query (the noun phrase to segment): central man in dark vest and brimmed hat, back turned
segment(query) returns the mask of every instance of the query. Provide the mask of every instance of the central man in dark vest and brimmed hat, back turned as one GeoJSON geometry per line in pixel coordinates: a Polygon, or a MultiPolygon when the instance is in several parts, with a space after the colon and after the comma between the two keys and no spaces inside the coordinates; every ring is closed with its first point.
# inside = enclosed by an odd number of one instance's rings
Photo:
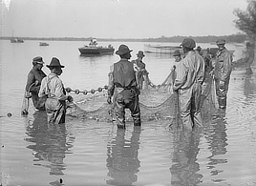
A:
{"type": "Polygon", "coordinates": [[[109,104],[114,102],[114,122],[117,128],[125,129],[125,109],[131,111],[134,119],[134,126],[140,126],[139,110],[139,88],[136,81],[136,70],[134,64],[128,61],[131,58],[132,50],[126,45],[120,45],[117,55],[120,60],[110,67],[108,99],[109,104]]]}

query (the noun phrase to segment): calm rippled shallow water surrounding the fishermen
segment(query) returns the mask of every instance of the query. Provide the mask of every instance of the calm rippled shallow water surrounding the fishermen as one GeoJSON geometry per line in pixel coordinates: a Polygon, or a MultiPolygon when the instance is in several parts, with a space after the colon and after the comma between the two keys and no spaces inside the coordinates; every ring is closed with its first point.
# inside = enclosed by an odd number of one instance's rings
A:
{"type": "MultiPolygon", "coordinates": [[[[47,47],[39,41],[0,42],[2,185],[256,185],[255,66],[251,76],[245,68],[232,72],[226,112],[212,115],[201,132],[170,130],[164,119],[143,121],[141,128],[128,122],[125,131],[72,116],[64,125],[49,125],[45,113],[32,107],[27,117],[20,115],[32,58],[41,55],[49,64],[58,57],[66,66],[60,77],[65,86],[91,90],[107,84],[118,56],[80,56],[84,42],[49,41],[47,47]]],[[[121,43],[111,44],[117,49],[121,43]]],[[[144,43],[125,44],[135,59],[144,43]]],[[[241,56],[242,46],[226,47],[235,50],[235,59],[241,56]]],[[[174,64],[174,58],[159,54],[146,53],[144,61],[157,85],[174,64]]]]}

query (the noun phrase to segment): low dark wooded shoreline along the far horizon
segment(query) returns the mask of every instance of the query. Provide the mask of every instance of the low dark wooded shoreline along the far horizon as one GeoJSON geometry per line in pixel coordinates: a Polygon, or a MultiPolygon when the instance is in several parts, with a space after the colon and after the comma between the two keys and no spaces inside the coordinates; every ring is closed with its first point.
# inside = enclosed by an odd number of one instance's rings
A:
{"type": "MultiPolygon", "coordinates": [[[[125,41],[125,42],[169,42],[169,43],[180,43],[187,36],[172,36],[165,37],[161,36],[158,38],[96,38],[97,41],[125,41]]],[[[246,35],[242,33],[224,35],[224,36],[189,36],[196,40],[198,43],[212,43],[216,42],[219,38],[224,38],[227,43],[244,43],[246,40],[246,35]]],[[[21,39],[21,40],[38,40],[38,41],[90,41],[92,37],[10,37],[2,36],[1,40],[11,40],[11,39],[21,39]]]]}

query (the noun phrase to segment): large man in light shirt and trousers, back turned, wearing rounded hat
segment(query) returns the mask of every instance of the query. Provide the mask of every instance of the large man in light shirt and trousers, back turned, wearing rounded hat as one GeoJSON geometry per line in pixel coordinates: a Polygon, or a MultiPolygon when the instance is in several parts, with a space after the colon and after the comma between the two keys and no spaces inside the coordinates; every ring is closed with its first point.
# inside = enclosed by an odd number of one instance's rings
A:
{"type": "Polygon", "coordinates": [[[204,78],[203,57],[194,51],[196,42],[185,38],[181,43],[184,58],[177,67],[177,77],[174,91],[178,91],[181,106],[181,121],[183,130],[202,127],[200,100],[204,78]]]}

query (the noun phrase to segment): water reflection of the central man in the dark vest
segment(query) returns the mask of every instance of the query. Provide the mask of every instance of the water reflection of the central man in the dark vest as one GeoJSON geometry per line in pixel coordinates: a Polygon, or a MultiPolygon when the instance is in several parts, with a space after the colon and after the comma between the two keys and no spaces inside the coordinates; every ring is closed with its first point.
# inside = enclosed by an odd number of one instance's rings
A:
{"type": "Polygon", "coordinates": [[[117,136],[107,145],[108,176],[110,185],[132,185],[138,181],[139,173],[139,135],[140,127],[134,127],[130,139],[126,139],[128,131],[117,129],[117,136]]]}

